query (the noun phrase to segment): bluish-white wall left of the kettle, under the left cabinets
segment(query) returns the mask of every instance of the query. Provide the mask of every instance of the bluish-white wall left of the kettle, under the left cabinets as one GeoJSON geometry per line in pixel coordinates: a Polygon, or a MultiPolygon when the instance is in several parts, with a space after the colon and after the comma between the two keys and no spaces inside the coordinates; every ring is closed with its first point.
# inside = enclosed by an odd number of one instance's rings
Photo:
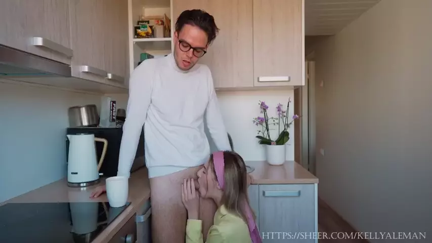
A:
{"type": "Polygon", "coordinates": [[[100,97],[2,83],[0,79],[0,202],[66,176],[67,109],[100,97]]]}

